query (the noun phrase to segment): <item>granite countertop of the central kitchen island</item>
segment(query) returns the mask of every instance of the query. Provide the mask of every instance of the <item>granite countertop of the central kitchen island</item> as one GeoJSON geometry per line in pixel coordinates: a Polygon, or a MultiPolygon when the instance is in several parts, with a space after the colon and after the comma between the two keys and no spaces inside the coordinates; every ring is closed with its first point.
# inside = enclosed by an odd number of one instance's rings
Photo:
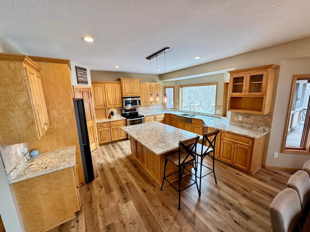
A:
{"type": "Polygon", "coordinates": [[[141,123],[122,127],[121,129],[154,152],[155,155],[172,151],[179,147],[180,140],[198,135],[160,122],[141,123]]]}

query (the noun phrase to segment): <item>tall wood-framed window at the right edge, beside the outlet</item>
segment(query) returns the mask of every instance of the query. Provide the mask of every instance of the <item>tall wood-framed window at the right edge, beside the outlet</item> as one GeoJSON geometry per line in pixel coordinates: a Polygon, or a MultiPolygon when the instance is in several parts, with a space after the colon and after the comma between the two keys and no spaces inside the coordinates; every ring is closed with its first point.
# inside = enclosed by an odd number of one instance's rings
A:
{"type": "Polygon", "coordinates": [[[310,74],[294,75],[286,119],[283,153],[310,154],[310,74]]]}

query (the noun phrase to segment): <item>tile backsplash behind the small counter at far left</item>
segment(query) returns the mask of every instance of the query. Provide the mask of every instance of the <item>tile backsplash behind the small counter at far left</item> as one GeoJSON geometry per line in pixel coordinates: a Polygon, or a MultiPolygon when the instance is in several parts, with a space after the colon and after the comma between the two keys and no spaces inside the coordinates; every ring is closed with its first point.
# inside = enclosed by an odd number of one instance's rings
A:
{"type": "Polygon", "coordinates": [[[23,145],[23,147],[29,148],[27,143],[14,144],[14,145],[8,145],[8,146],[0,145],[0,155],[4,163],[6,174],[9,174],[16,167],[16,165],[20,162],[20,160],[22,160],[25,156],[25,154],[21,154],[21,156],[18,156],[17,147],[18,146],[20,147],[20,145],[23,145]]]}

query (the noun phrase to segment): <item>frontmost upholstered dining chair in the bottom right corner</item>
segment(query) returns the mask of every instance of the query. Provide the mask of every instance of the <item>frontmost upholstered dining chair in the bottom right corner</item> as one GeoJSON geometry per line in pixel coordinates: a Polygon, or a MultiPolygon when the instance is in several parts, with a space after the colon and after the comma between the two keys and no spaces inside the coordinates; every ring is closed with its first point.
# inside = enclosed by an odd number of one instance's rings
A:
{"type": "Polygon", "coordinates": [[[272,232],[295,232],[300,228],[301,206],[297,192],[285,188],[273,199],[270,207],[272,232]]]}

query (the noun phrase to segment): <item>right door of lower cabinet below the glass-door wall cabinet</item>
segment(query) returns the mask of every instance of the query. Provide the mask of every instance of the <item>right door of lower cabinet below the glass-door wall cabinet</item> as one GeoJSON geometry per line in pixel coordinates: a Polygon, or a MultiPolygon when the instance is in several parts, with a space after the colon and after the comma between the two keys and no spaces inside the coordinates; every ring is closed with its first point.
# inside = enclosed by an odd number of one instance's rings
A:
{"type": "Polygon", "coordinates": [[[251,147],[235,144],[234,145],[234,159],[233,165],[249,171],[250,170],[250,161],[251,161],[251,147]]]}

